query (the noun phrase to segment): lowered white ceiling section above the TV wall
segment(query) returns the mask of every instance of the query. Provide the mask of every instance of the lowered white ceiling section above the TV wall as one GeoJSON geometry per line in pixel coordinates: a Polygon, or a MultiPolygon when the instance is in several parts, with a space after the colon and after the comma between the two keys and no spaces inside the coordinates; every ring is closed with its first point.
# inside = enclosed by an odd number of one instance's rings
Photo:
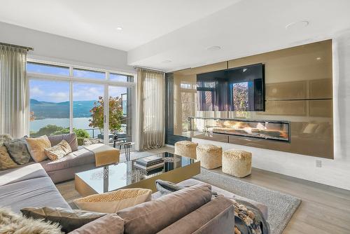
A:
{"type": "Polygon", "coordinates": [[[128,63],[174,71],[331,39],[350,29],[349,9],[350,0],[242,0],[130,50],[128,63]],[[309,25],[286,30],[300,20],[309,25]]]}

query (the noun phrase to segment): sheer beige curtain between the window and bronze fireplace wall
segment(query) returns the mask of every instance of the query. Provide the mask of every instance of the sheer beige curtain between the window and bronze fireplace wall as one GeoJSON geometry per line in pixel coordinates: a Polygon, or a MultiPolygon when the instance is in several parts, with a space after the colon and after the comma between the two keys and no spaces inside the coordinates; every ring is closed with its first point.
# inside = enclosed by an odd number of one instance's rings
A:
{"type": "Polygon", "coordinates": [[[137,70],[139,150],[165,144],[165,73],[137,70]]]}

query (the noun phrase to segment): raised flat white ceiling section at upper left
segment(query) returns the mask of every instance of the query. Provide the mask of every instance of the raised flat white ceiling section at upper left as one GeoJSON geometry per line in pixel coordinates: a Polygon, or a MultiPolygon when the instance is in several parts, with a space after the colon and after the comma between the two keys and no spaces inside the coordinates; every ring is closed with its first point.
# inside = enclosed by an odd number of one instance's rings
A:
{"type": "Polygon", "coordinates": [[[0,21],[130,50],[236,1],[0,0],[0,21]]]}

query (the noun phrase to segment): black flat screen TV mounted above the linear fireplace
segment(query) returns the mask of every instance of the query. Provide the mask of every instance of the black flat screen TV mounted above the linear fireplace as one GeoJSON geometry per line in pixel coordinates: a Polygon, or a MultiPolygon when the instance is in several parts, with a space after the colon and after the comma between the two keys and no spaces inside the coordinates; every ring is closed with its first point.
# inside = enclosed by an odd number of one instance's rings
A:
{"type": "Polygon", "coordinates": [[[264,64],[197,74],[197,110],[264,111],[264,64]]]}

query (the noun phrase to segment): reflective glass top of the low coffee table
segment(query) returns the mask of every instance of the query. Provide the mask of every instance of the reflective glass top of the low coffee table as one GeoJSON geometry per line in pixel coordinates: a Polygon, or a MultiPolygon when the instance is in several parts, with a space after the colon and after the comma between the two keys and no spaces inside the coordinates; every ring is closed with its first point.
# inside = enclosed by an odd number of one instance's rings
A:
{"type": "MultiPolygon", "coordinates": [[[[106,193],[152,177],[159,177],[161,174],[172,172],[179,168],[200,163],[200,161],[193,158],[186,158],[167,152],[154,154],[152,156],[163,158],[163,166],[151,172],[147,172],[146,170],[135,167],[134,163],[139,159],[137,158],[118,163],[117,165],[107,165],[106,167],[98,167],[85,172],[78,172],[76,173],[76,183],[78,179],[79,181],[83,181],[85,186],[89,186],[90,190],[92,189],[96,193],[106,193]]],[[[142,158],[147,157],[149,156],[142,158]]]]}

